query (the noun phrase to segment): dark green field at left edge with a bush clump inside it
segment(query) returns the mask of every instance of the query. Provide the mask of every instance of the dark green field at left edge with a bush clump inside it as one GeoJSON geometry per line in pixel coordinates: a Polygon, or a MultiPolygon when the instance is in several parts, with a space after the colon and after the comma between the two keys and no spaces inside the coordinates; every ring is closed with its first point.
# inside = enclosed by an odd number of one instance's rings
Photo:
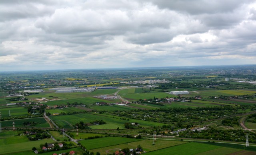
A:
{"type": "Polygon", "coordinates": [[[19,120],[7,120],[1,121],[2,127],[12,127],[12,123],[15,123],[15,127],[25,127],[23,122],[37,122],[35,126],[28,126],[28,128],[39,127],[39,128],[50,128],[50,125],[44,120],[44,118],[24,118],[19,120]]]}

